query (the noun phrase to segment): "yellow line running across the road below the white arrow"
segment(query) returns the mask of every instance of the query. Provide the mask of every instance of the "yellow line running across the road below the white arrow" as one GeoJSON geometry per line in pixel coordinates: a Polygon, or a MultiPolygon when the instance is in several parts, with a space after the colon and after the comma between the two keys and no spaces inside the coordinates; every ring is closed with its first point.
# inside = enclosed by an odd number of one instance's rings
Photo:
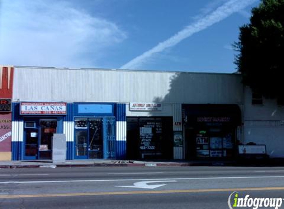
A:
{"type": "Polygon", "coordinates": [[[30,194],[30,195],[0,195],[0,198],[44,198],[96,195],[131,195],[131,194],[166,194],[166,193],[193,193],[193,192],[229,192],[229,191],[258,191],[284,190],[284,187],[254,187],[254,188],[224,188],[224,189],[185,189],[160,191],[124,191],[124,192],[86,192],[86,193],[58,193],[58,194],[30,194]]]}

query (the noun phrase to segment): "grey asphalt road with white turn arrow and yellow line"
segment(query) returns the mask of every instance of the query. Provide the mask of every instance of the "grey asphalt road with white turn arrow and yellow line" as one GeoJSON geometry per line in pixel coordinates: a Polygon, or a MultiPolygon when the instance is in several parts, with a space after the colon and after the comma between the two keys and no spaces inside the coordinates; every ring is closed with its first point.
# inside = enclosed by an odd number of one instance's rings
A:
{"type": "Polygon", "coordinates": [[[282,203],[284,167],[0,169],[0,209],[228,209],[234,191],[282,203]]]}

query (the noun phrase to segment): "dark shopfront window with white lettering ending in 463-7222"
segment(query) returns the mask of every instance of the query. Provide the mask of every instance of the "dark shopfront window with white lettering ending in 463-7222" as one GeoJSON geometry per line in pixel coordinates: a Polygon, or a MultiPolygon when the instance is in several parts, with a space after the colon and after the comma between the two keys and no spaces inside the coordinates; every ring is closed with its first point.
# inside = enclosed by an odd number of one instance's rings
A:
{"type": "Polygon", "coordinates": [[[171,117],[128,117],[127,158],[171,159],[172,123],[171,117]]]}

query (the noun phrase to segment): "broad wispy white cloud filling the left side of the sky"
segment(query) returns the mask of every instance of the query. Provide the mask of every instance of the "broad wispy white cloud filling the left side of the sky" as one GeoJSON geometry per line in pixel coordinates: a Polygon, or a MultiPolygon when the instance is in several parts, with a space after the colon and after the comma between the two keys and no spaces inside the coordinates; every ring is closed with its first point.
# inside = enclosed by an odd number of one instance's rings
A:
{"type": "Polygon", "coordinates": [[[66,0],[1,0],[0,63],[89,67],[127,35],[66,0]],[[91,56],[91,57],[90,57],[91,56]]]}

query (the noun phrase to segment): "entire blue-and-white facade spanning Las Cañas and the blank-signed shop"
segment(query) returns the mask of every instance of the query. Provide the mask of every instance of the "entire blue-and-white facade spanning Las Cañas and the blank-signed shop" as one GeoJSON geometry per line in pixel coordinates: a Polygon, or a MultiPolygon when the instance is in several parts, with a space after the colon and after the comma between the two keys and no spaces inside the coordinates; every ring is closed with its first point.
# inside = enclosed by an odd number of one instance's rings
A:
{"type": "Polygon", "coordinates": [[[13,103],[12,160],[52,159],[54,133],[66,135],[67,160],[125,159],[125,104],[13,103]]]}

